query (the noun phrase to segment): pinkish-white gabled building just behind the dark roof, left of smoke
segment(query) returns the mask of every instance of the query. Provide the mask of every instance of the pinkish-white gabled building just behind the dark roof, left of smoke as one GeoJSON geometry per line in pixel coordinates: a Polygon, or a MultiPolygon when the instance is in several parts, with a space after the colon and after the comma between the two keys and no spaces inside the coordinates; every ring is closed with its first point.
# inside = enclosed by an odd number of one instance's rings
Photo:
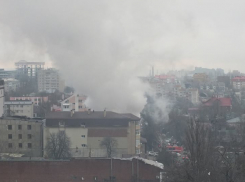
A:
{"type": "Polygon", "coordinates": [[[73,94],[61,102],[61,110],[62,111],[71,111],[71,110],[87,111],[85,105],[86,99],[87,96],[85,95],[73,94]]]}

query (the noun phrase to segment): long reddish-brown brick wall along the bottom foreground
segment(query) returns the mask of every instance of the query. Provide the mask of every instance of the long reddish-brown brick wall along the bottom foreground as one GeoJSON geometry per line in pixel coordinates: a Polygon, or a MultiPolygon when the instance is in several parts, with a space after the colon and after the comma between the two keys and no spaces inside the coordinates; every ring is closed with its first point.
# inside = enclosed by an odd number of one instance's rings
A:
{"type": "Polygon", "coordinates": [[[160,168],[136,159],[0,161],[3,182],[103,182],[109,176],[114,176],[116,182],[159,182],[160,171],[160,168]]]}

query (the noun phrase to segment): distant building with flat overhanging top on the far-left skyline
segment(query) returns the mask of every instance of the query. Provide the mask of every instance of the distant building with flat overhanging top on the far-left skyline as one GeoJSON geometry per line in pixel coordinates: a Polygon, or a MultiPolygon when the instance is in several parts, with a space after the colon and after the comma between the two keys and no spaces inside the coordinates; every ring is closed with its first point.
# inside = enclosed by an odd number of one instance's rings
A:
{"type": "Polygon", "coordinates": [[[15,63],[17,75],[26,75],[32,78],[37,77],[37,72],[42,70],[44,65],[44,62],[27,62],[24,60],[15,63]]]}

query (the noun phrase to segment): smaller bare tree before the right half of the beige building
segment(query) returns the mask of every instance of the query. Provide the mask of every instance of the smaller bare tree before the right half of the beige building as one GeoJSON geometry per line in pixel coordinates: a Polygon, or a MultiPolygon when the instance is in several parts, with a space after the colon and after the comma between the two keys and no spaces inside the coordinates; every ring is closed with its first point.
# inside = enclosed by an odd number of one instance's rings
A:
{"type": "Polygon", "coordinates": [[[106,153],[107,157],[112,157],[112,154],[116,152],[116,147],[117,147],[117,140],[112,137],[105,137],[101,142],[100,142],[101,147],[106,148],[106,153]]]}

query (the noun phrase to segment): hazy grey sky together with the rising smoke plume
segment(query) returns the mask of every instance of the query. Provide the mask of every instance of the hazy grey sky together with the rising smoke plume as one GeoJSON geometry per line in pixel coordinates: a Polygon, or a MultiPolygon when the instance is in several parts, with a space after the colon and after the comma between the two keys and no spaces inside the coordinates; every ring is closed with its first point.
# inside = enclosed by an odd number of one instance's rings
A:
{"type": "Polygon", "coordinates": [[[133,78],[151,65],[245,72],[244,7],[242,0],[1,0],[0,66],[46,61],[94,102],[138,110],[144,87],[133,78]],[[113,93],[119,100],[111,105],[113,93]]]}

